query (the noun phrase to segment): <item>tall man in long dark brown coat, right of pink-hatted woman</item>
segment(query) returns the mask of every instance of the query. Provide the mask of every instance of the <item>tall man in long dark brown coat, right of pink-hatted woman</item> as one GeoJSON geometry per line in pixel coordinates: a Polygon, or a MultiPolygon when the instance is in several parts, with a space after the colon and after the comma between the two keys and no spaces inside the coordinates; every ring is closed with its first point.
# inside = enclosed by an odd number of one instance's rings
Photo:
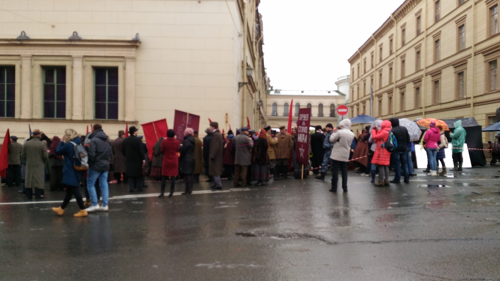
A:
{"type": "Polygon", "coordinates": [[[220,175],[222,174],[222,151],[224,148],[224,139],[218,130],[217,122],[210,122],[210,130],[212,132],[212,139],[210,141],[210,152],[208,159],[208,174],[213,176],[214,189],[222,189],[222,181],[220,175]]]}

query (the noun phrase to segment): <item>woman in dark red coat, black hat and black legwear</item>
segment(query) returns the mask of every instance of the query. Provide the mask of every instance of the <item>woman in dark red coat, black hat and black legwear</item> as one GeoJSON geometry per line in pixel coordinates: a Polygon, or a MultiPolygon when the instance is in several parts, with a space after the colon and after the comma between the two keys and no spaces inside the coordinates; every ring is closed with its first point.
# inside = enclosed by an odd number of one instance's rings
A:
{"type": "Polygon", "coordinates": [[[161,141],[160,151],[163,154],[163,161],[161,165],[161,193],[159,198],[163,198],[165,192],[166,179],[170,178],[170,194],[173,195],[173,188],[175,187],[175,176],[179,174],[179,141],[175,139],[175,131],[169,129],[166,131],[166,138],[161,141]]]}

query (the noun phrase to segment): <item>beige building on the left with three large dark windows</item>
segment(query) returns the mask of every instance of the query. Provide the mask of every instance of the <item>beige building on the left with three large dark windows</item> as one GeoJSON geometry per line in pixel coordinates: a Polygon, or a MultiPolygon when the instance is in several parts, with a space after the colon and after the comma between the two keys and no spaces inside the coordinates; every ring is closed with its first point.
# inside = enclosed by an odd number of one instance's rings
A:
{"type": "Polygon", "coordinates": [[[0,0],[0,135],[265,123],[260,0],[0,0]],[[21,31],[23,31],[21,33],[21,31]],[[75,32],[73,32],[75,31],[75,32]],[[137,34],[137,35],[136,35],[137,34]]]}

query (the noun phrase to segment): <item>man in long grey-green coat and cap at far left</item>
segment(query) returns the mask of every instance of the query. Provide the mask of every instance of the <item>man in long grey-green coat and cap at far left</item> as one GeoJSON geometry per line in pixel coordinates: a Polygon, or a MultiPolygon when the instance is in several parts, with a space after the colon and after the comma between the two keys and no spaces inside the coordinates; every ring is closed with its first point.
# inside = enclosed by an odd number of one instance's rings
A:
{"type": "Polygon", "coordinates": [[[32,198],[32,188],[35,189],[35,198],[44,198],[42,192],[45,186],[45,164],[48,161],[48,152],[47,146],[41,142],[40,130],[33,130],[31,139],[22,145],[21,159],[26,160],[26,198],[32,198]]]}

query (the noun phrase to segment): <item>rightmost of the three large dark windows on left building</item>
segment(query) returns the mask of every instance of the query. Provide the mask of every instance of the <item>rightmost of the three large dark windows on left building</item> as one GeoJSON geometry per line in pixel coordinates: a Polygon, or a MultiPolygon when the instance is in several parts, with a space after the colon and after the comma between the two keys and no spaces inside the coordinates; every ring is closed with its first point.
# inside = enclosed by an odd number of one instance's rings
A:
{"type": "Polygon", "coordinates": [[[95,119],[118,119],[118,67],[94,68],[95,119]]]}

